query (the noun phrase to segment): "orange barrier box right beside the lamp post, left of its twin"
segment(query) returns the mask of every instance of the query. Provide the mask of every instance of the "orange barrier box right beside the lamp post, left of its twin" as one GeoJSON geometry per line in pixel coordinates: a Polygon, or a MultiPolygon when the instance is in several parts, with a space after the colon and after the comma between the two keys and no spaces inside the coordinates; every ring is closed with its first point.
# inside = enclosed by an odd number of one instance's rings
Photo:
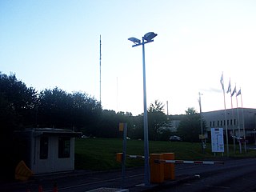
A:
{"type": "Polygon", "coordinates": [[[150,182],[164,182],[164,164],[154,162],[154,160],[163,159],[163,154],[150,154],[150,182]]]}

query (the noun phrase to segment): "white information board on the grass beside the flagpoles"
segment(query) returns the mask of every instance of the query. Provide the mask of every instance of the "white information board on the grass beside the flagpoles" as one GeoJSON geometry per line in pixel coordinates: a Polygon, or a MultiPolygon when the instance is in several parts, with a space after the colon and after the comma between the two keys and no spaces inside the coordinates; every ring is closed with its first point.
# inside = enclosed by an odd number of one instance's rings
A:
{"type": "Polygon", "coordinates": [[[224,152],[223,128],[211,128],[211,151],[224,152]]]}

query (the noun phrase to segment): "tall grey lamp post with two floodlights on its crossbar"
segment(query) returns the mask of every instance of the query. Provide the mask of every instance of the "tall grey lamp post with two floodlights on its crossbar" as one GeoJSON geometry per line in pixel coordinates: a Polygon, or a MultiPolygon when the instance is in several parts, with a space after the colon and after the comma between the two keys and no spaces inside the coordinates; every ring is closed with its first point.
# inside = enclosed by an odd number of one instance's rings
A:
{"type": "MultiPolygon", "coordinates": [[[[150,162],[149,162],[149,134],[148,134],[148,121],[146,110],[146,70],[145,70],[145,44],[148,42],[154,42],[158,34],[149,32],[142,37],[142,42],[138,38],[128,38],[131,42],[134,42],[134,46],[142,46],[142,63],[143,63],[143,101],[144,101],[144,182],[146,186],[150,185],[150,162]]],[[[134,47],[132,46],[132,47],[134,47]]]]}

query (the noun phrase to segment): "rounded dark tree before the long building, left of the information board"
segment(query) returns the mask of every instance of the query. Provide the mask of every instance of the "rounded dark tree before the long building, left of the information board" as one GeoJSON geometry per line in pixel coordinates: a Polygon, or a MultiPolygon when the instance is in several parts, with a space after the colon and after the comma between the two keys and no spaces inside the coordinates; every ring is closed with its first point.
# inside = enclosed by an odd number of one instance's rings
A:
{"type": "MultiPolygon", "coordinates": [[[[206,130],[206,122],[202,122],[202,127],[206,130]]],[[[178,126],[178,135],[186,142],[199,142],[199,134],[201,134],[200,114],[193,107],[186,110],[186,115],[178,126]]]]}

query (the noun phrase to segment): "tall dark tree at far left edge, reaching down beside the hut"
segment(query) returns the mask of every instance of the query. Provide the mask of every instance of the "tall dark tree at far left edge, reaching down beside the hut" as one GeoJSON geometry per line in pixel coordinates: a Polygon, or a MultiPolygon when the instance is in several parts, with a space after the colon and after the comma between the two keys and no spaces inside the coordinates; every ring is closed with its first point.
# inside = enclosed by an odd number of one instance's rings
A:
{"type": "Polygon", "coordinates": [[[25,83],[18,81],[15,74],[0,72],[0,127],[2,177],[12,179],[14,167],[17,165],[14,154],[14,130],[31,126],[34,123],[34,109],[37,102],[37,92],[27,88],[25,83]]]}

